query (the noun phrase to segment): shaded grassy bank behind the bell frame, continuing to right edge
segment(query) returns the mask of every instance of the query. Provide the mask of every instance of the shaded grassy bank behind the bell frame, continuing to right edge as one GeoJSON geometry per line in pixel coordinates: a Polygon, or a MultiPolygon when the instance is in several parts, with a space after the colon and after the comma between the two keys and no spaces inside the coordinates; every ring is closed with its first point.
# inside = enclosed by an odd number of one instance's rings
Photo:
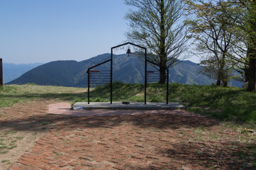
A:
{"type": "MultiPolygon", "coordinates": [[[[91,91],[90,101],[110,101],[109,86],[91,91]]],[[[165,102],[166,84],[151,84],[147,88],[147,101],[165,102]]],[[[74,98],[74,102],[87,101],[74,98]]],[[[144,84],[113,83],[113,101],[144,101],[144,84]]],[[[186,106],[187,111],[220,120],[240,120],[256,125],[256,93],[237,87],[196,86],[169,84],[169,101],[186,106]]]]}

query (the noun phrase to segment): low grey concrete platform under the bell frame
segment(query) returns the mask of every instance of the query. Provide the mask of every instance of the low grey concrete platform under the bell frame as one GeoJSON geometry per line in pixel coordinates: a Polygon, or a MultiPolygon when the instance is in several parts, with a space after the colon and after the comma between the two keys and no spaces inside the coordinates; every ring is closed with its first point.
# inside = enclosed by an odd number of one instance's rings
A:
{"type": "Polygon", "coordinates": [[[164,102],[147,102],[145,105],[144,102],[130,102],[130,104],[123,104],[121,102],[77,102],[72,106],[74,110],[79,109],[109,109],[109,110],[173,110],[177,108],[185,108],[180,103],[169,102],[168,104],[164,102]]]}

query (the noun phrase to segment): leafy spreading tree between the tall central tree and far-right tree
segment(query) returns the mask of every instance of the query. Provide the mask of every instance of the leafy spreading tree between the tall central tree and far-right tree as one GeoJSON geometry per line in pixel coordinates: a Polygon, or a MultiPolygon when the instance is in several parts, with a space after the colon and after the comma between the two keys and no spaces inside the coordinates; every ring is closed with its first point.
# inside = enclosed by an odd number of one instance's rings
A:
{"type": "Polygon", "coordinates": [[[236,42],[230,22],[237,18],[226,17],[218,4],[212,1],[187,1],[188,11],[194,17],[187,21],[189,32],[196,42],[196,50],[201,54],[204,74],[216,79],[216,85],[228,85],[232,78],[233,62],[230,49],[236,42]]]}

